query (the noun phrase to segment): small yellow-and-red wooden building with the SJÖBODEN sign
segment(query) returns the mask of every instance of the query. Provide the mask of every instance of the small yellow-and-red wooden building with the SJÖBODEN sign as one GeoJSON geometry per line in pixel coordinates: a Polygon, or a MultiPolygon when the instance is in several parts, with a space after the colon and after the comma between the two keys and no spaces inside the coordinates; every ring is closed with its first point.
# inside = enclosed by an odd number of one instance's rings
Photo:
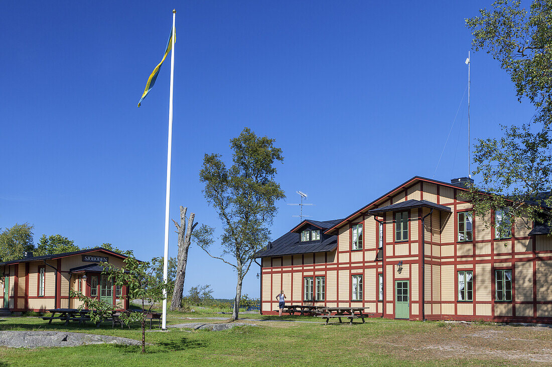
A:
{"type": "Polygon", "coordinates": [[[28,253],[20,260],[2,262],[2,308],[16,312],[75,309],[82,303],[70,296],[73,289],[128,309],[129,300],[124,298],[126,287],[115,287],[99,265],[109,262],[121,268],[125,258],[118,252],[96,247],[44,256],[28,253]]]}

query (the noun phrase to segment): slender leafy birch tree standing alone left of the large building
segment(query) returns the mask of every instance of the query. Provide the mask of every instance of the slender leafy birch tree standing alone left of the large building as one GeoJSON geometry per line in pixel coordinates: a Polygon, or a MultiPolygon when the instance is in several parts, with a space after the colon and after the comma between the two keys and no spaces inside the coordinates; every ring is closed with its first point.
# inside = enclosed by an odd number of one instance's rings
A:
{"type": "Polygon", "coordinates": [[[275,163],[283,161],[282,149],[273,146],[274,139],[257,137],[249,128],[230,140],[232,166],[219,154],[205,154],[200,181],[207,202],[215,208],[222,222],[221,255],[213,255],[214,229],[202,225],[194,238],[211,257],[233,267],[237,276],[232,321],[237,320],[243,278],[257,251],[269,240],[269,226],[277,212],[275,202],[285,197],[274,181],[275,163]]]}

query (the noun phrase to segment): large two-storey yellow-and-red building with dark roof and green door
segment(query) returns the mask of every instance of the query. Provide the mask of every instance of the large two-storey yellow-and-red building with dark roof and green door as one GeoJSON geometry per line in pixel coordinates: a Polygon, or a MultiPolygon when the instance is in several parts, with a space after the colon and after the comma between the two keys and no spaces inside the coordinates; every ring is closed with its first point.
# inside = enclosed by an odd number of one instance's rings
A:
{"type": "Polygon", "coordinates": [[[410,320],[552,322],[552,237],[522,218],[485,223],[466,181],[413,177],[348,215],[304,220],[257,254],[261,312],[287,304],[362,306],[410,320]]]}

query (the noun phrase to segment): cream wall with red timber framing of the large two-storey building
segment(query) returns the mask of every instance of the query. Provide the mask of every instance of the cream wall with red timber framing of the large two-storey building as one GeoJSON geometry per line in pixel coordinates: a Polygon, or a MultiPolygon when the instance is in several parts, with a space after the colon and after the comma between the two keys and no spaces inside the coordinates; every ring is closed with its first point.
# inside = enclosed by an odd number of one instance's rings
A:
{"type": "MultiPolygon", "coordinates": [[[[461,188],[416,181],[381,198],[368,209],[408,199],[424,199],[450,208],[409,211],[408,240],[396,242],[394,213],[380,217],[359,214],[336,229],[337,249],[328,253],[262,259],[262,312],[278,309],[275,296],[284,290],[286,304],[363,306],[376,316],[395,317],[395,282],[408,280],[410,319],[552,322],[552,236],[529,236],[527,223],[512,224],[512,237],[495,239],[491,226],[473,218],[473,241],[458,241],[458,213],[471,210],[461,188]],[[422,225],[422,217],[424,219],[422,225]],[[379,220],[383,223],[383,259],[378,260],[379,220]],[[352,225],[362,223],[362,250],[352,250],[352,225]],[[422,241],[425,245],[422,249],[422,241]],[[422,270],[422,253],[424,269],[422,270]],[[402,266],[399,266],[399,263],[402,266]],[[495,300],[495,271],[511,269],[512,301],[495,300]],[[459,301],[458,272],[473,273],[473,301],[459,301]],[[422,273],[424,277],[422,277],[422,273]],[[363,299],[352,300],[352,276],[363,275],[363,299]],[[378,300],[378,274],[384,277],[383,300],[378,300]],[[324,276],[325,300],[304,300],[304,278],[324,276]],[[422,279],[425,279],[422,284],[422,279]],[[424,292],[422,294],[422,286],[424,292]]],[[[368,210],[367,209],[367,210],[368,210]]],[[[529,228],[532,226],[528,223],[529,228]]]]}

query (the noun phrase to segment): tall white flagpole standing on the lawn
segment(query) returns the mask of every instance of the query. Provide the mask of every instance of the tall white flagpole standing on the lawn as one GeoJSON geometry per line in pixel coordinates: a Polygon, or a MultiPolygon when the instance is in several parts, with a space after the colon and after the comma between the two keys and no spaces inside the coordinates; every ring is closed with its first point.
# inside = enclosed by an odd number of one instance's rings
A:
{"type": "MultiPolygon", "coordinates": [[[[172,95],[174,80],[174,21],[176,10],[173,9],[173,33],[171,36],[171,93],[169,95],[169,137],[167,144],[167,194],[165,198],[165,252],[163,256],[163,282],[167,283],[168,257],[169,257],[169,203],[171,202],[171,148],[172,148],[172,95]]],[[[163,289],[163,330],[167,330],[167,288],[163,289]]]]}

